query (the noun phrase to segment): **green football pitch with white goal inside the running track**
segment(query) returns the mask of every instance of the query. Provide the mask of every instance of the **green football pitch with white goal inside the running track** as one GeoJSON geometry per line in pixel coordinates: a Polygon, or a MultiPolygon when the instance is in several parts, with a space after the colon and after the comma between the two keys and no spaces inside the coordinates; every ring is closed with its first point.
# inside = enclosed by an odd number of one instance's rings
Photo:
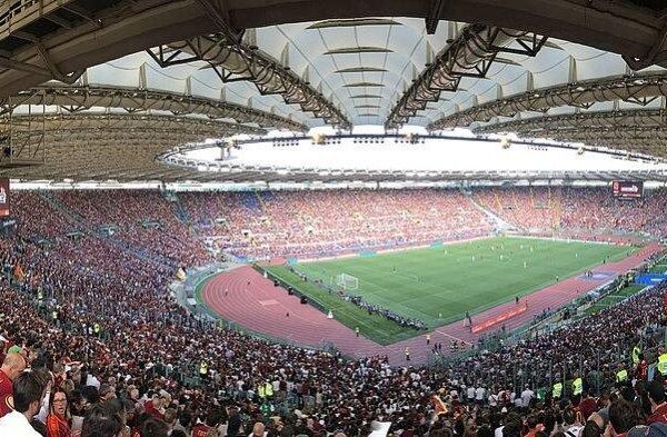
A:
{"type": "Polygon", "coordinates": [[[336,288],[338,275],[352,276],[358,286],[348,294],[421,320],[432,329],[462,319],[466,311],[471,315],[484,311],[545,288],[556,282],[557,277],[565,279],[605,260],[620,260],[635,250],[635,247],[594,242],[495,237],[292,265],[308,281],[286,266],[271,266],[268,270],[331,310],[337,320],[352,329],[359,327],[364,336],[388,345],[424,331],[369,315],[322,285],[336,288]],[[315,284],[315,279],[321,285],[315,284]]]}

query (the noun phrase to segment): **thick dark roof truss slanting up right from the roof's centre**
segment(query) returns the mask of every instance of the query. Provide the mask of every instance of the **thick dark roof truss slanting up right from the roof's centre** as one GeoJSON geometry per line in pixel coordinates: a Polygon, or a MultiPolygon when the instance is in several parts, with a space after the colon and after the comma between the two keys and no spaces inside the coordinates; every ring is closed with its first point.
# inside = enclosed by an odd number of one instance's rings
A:
{"type": "Polygon", "coordinates": [[[391,109],[386,129],[396,129],[437,102],[442,91],[456,91],[462,77],[484,78],[499,52],[535,56],[547,37],[495,26],[470,24],[426,67],[391,109]]]}

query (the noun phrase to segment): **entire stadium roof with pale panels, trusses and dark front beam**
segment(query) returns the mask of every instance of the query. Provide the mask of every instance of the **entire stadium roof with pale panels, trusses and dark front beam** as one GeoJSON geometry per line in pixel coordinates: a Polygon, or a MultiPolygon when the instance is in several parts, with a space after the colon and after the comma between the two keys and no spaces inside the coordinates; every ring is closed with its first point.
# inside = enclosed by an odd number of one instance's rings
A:
{"type": "Polygon", "coordinates": [[[155,158],[207,138],[357,125],[666,157],[663,2],[529,3],[2,2],[0,172],[197,177],[155,158]]]}

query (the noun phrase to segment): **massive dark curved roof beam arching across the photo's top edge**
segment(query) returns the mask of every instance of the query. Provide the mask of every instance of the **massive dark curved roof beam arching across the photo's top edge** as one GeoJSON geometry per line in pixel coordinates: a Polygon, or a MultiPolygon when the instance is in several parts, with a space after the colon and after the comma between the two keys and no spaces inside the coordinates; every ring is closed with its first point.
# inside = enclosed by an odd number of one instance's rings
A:
{"type": "Polygon", "coordinates": [[[217,14],[202,7],[210,1],[199,0],[14,3],[19,8],[0,19],[0,96],[59,76],[71,80],[87,67],[223,29],[371,16],[426,17],[429,29],[438,19],[521,29],[621,53],[634,67],[667,60],[659,10],[629,2],[459,0],[432,8],[430,1],[402,0],[232,0],[218,3],[227,9],[217,14]]]}

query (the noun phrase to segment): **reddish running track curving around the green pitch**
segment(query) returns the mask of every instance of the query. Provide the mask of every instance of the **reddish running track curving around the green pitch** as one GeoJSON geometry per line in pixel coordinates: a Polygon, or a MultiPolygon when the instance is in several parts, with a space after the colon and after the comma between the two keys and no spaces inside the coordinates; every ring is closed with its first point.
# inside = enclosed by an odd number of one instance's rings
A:
{"type": "MultiPolygon", "coordinates": [[[[639,266],[648,256],[660,249],[659,245],[651,244],[631,257],[598,266],[593,271],[621,274],[639,266]]],[[[534,316],[541,314],[544,309],[559,308],[610,279],[607,277],[591,280],[577,276],[535,291],[522,298],[528,304],[528,310],[507,320],[505,325],[510,330],[515,329],[532,320],[534,316]]],[[[432,331],[431,346],[426,344],[425,335],[381,346],[365,337],[357,337],[352,329],[335,319],[327,319],[327,316],[315,307],[301,305],[297,296],[289,296],[283,288],[275,287],[271,280],[265,279],[249,266],[229,270],[209,280],[202,290],[202,298],[223,319],[256,332],[301,346],[321,347],[325,342],[331,342],[348,356],[387,355],[394,365],[406,364],[406,347],[410,348],[411,364],[424,364],[428,359],[432,342],[442,342],[445,350],[449,349],[451,339],[474,344],[485,334],[472,334],[462,321],[458,321],[432,331]]],[[[497,306],[474,316],[474,321],[495,318],[514,306],[514,301],[497,306]]]]}

